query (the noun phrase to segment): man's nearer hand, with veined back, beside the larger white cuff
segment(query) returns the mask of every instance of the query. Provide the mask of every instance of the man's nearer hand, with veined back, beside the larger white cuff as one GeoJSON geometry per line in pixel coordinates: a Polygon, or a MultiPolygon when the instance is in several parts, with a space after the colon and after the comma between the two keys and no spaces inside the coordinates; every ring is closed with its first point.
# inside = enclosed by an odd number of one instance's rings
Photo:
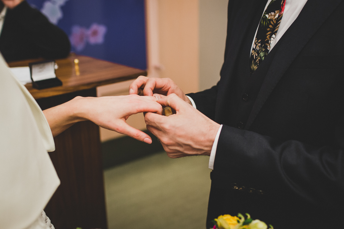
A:
{"type": "Polygon", "coordinates": [[[176,111],[168,117],[150,112],[144,116],[147,129],[159,138],[167,155],[170,158],[210,155],[220,125],[176,94],[157,102],[176,111]]]}

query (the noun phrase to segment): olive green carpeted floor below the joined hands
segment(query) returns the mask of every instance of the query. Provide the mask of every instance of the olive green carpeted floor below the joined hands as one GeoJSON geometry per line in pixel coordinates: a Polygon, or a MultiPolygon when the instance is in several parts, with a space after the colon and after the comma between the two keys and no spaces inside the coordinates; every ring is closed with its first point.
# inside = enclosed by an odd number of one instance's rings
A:
{"type": "Polygon", "coordinates": [[[109,229],[204,229],[209,157],[165,152],[104,171],[109,229]]]}

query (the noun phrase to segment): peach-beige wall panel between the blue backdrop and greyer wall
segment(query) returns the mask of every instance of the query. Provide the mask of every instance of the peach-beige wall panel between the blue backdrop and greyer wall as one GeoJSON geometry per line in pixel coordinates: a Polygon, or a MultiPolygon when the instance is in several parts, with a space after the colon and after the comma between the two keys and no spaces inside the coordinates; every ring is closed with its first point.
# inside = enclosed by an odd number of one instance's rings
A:
{"type": "Polygon", "coordinates": [[[198,91],[198,0],[159,0],[160,77],[198,91]]]}

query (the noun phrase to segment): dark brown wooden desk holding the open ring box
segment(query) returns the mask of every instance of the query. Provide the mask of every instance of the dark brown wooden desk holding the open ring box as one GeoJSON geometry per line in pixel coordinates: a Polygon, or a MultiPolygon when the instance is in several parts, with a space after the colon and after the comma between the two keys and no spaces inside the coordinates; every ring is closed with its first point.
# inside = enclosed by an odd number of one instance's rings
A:
{"type": "MultiPolygon", "coordinates": [[[[10,67],[28,66],[25,60],[10,67]]],[[[147,75],[144,70],[86,56],[71,55],[56,60],[56,76],[63,85],[30,91],[42,110],[62,104],[75,96],[96,96],[96,87],[147,75]],[[75,75],[74,59],[79,59],[80,75],[75,75]]],[[[99,128],[85,121],[74,124],[54,138],[56,150],[50,152],[61,185],[44,209],[56,229],[107,229],[103,166],[99,128]]]]}

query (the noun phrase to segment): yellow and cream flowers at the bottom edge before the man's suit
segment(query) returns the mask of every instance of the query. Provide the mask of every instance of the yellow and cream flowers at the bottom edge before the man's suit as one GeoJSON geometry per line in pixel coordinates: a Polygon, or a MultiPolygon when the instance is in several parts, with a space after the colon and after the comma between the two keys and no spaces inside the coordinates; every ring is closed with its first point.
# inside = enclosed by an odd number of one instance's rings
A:
{"type": "MultiPolygon", "coordinates": [[[[231,215],[221,215],[217,219],[212,220],[214,227],[211,229],[267,229],[268,226],[265,222],[260,221],[259,219],[251,219],[251,216],[247,214],[247,218],[240,213],[238,216],[231,215]]],[[[273,229],[269,225],[269,229],[273,229]]]]}

